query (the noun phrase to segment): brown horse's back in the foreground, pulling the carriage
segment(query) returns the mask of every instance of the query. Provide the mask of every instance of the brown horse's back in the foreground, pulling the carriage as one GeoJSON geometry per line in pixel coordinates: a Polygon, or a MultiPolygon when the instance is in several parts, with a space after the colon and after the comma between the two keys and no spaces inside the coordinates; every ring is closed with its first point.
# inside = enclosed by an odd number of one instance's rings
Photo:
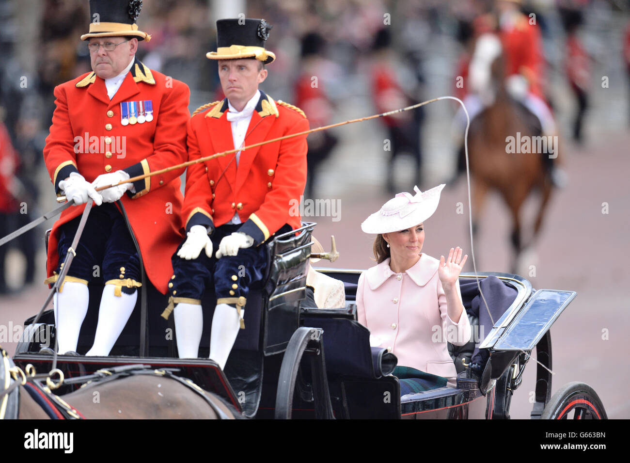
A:
{"type": "MultiPolygon", "coordinates": [[[[157,374],[136,374],[110,381],[92,381],[61,399],[88,419],[234,419],[238,411],[206,391],[193,391],[179,380],[157,374]],[[201,391],[201,392],[200,392],[201,391]],[[205,396],[205,398],[204,398],[205,396]]],[[[197,387],[198,388],[198,387],[197,387]]],[[[49,415],[22,387],[19,419],[47,420],[49,415]]]]}

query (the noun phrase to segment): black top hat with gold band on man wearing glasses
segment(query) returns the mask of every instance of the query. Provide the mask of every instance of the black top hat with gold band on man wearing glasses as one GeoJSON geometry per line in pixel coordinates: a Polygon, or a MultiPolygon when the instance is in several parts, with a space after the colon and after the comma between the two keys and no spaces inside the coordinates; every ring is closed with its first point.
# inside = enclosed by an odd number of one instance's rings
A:
{"type": "Polygon", "coordinates": [[[81,40],[90,37],[122,37],[132,35],[138,40],[151,40],[151,35],[138,30],[135,20],[142,9],[142,0],[89,0],[89,33],[81,35],[81,40]]]}

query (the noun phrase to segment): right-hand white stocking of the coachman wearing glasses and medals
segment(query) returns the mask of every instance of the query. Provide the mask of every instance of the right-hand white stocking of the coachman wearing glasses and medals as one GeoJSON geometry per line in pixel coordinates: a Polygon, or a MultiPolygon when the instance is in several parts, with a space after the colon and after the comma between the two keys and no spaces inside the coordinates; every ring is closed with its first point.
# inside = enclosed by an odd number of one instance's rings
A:
{"type": "Polygon", "coordinates": [[[137,290],[134,294],[122,293],[115,296],[114,289],[115,285],[105,285],[103,288],[94,345],[86,355],[109,355],[131,312],[134,311],[135,301],[138,299],[137,290]]]}

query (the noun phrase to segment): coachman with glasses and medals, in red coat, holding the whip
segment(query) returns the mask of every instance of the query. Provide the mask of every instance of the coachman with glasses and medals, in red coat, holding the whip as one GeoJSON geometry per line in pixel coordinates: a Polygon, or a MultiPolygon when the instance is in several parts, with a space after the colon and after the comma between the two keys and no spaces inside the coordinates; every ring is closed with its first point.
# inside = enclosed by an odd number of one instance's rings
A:
{"type": "Polygon", "coordinates": [[[140,287],[140,249],[147,277],[161,292],[171,275],[168,260],[180,241],[179,176],[170,171],[97,193],[95,188],[186,161],[186,84],[148,69],[135,59],[139,0],[90,0],[89,26],[81,40],[93,72],[55,88],[50,135],[43,151],[57,195],[74,200],[52,229],[47,283],[57,280],[77,230],[81,204],[95,207],[59,293],[55,322],[60,353],[76,353],[88,310],[88,283],[101,276],[101,297],[93,347],[87,355],[108,355],[124,328],[140,287]],[[98,14],[98,16],[95,16],[98,14]],[[134,237],[127,226],[132,229],[134,237]]]}

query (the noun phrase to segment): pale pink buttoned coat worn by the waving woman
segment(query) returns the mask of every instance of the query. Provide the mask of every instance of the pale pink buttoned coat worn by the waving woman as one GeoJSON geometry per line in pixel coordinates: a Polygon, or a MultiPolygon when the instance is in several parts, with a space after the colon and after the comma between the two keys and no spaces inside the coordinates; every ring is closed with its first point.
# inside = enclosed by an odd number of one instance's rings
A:
{"type": "Polygon", "coordinates": [[[466,309],[458,323],[447,314],[439,264],[422,254],[404,273],[392,272],[389,259],[363,272],[357,288],[358,321],[370,330],[370,343],[389,348],[398,365],[443,376],[454,386],[457,373],[447,342],[466,344],[471,326],[466,309]]]}

